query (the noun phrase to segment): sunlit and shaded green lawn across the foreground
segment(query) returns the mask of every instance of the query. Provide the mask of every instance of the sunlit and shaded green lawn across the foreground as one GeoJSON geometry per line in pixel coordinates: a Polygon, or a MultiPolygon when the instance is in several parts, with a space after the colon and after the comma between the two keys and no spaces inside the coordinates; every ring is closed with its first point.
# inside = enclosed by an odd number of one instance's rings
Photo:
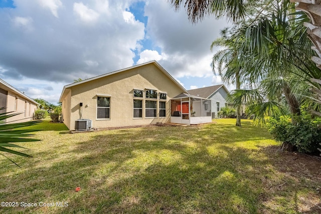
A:
{"type": "MultiPolygon", "coordinates": [[[[301,168],[287,162],[293,154],[278,152],[279,144],[264,128],[249,120],[242,127],[234,124],[235,119],[221,119],[200,126],[67,134],[63,124],[44,121],[32,127],[43,129],[36,133],[42,141],[23,144],[34,157],[10,156],[22,168],[0,158],[0,198],[38,206],[0,207],[0,212],[321,211],[319,177],[303,170],[302,161],[295,163],[301,168]],[[57,201],[68,206],[56,206],[57,201]]],[[[310,161],[320,168],[321,161],[310,161]]]]}

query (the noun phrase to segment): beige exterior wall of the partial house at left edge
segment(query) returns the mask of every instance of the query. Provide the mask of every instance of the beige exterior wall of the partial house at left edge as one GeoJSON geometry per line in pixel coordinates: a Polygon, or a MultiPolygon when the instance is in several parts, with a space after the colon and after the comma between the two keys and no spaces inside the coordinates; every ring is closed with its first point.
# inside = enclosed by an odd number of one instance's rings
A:
{"type": "Polygon", "coordinates": [[[23,97],[11,91],[8,91],[6,106],[7,112],[14,111],[15,113],[21,113],[14,117],[8,118],[6,120],[7,123],[30,121],[33,119],[33,115],[35,113],[35,110],[37,109],[36,104],[24,99],[23,97]]]}

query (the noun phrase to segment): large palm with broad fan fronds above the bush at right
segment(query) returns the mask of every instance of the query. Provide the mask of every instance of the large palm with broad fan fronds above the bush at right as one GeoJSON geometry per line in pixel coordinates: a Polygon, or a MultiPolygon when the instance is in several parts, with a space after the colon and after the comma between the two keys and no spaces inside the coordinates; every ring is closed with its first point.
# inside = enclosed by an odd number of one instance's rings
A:
{"type": "MultiPolygon", "coordinates": [[[[289,1],[273,1],[272,6],[265,7],[264,14],[223,31],[222,38],[214,41],[211,47],[225,47],[213,57],[213,65],[218,63],[221,76],[221,67],[225,68],[223,79],[241,74],[242,81],[247,81],[250,89],[255,90],[232,93],[231,100],[238,105],[246,99],[251,101],[256,105],[255,108],[252,106],[252,113],[256,113],[261,122],[264,122],[267,112],[284,112],[276,110],[282,106],[278,104],[281,96],[285,97],[292,115],[300,114],[300,97],[294,91],[302,85],[313,84],[310,78],[321,75],[310,60],[313,54],[309,49],[311,43],[302,25],[306,16],[303,13],[293,14],[294,5],[289,1]],[[291,16],[292,19],[287,18],[291,16]],[[291,84],[294,80],[295,85],[291,84]],[[257,89],[260,93],[256,93],[257,89]],[[240,95],[243,97],[238,100],[240,95]]],[[[304,93],[304,96],[308,94],[307,91],[304,93]]]]}

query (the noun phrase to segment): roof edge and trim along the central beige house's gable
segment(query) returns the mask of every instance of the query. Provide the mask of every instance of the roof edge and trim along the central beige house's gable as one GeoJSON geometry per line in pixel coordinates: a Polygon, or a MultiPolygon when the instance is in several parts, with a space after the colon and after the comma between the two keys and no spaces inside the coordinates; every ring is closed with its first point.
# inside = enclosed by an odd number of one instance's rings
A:
{"type": "Polygon", "coordinates": [[[89,82],[89,81],[93,81],[93,80],[96,80],[96,79],[99,79],[99,78],[107,77],[107,76],[110,76],[110,75],[113,75],[113,74],[117,74],[117,73],[120,73],[120,72],[123,72],[123,71],[128,71],[130,69],[138,68],[138,67],[141,67],[141,66],[144,66],[144,65],[147,65],[147,64],[154,64],[159,70],[161,70],[166,76],[168,76],[176,85],[178,85],[184,92],[188,93],[187,90],[179,82],[177,82],[177,80],[174,79],[174,77],[172,77],[161,65],[159,65],[155,60],[153,60],[153,61],[150,61],[150,62],[142,63],[142,64],[139,64],[139,65],[135,65],[135,66],[132,66],[132,67],[128,67],[128,68],[124,68],[124,69],[121,69],[121,70],[113,71],[113,72],[110,72],[110,73],[107,73],[107,74],[103,74],[103,75],[99,75],[99,76],[96,76],[96,77],[92,77],[92,78],[89,78],[89,79],[86,79],[86,80],[83,80],[83,81],[80,81],[80,82],[77,82],[77,83],[72,83],[72,84],[66,85],[66,86],[64,86],[64,88],[62,90],[62,93],[61,93],[61,96],[59,98],[59,101],[62,102],[62,98],[64,97],[64,94],[66,93],[66,89],[69,89],[69,88],[71,88],[73,86],[80,85],[80,84],[83,84],[83,83],[86,83],[86,82],[89,82]]]}

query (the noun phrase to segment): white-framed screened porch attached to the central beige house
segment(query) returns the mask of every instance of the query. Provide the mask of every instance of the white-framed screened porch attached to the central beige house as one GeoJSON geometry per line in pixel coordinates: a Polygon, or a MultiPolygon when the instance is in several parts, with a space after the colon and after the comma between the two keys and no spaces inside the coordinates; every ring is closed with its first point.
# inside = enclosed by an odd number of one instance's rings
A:
{"type": "Polygon", "coordinates": [[[211,109],[210,99],[182,93],[171,99],[171,123],[210,123],[211,109]]]}

